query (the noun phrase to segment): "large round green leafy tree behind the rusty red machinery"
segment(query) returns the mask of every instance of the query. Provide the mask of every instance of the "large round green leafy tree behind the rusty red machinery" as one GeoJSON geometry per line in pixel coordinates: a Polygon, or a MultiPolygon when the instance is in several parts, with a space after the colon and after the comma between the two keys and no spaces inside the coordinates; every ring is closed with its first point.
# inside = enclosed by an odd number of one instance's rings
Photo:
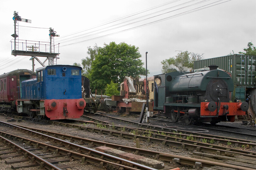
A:
{"type": "Polygon", "coordinates": [[[145,76],[146,69],[142,67],[143,62],[140,60],[138,49],[124,42],[110,42],[104,44],[102,48],[99,47],[88,77],[93,91],[105,89],[111,80],[120,84],[125,76],[145,76]]]}

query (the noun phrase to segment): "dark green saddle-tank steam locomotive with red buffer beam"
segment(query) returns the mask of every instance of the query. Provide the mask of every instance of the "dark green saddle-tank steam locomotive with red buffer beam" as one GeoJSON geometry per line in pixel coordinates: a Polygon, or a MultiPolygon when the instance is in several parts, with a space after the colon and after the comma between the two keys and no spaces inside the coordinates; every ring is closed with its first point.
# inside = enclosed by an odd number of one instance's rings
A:
{"type": "Polygon", "coordinates": [[[173,122],[183,119],[186,124],[197,122],[235,121],[245,115],[247,102],[229,102],[234,89],[228,73],[209,66],[210,70],[155,75],[154,110],[171,117],[173,122]]]}

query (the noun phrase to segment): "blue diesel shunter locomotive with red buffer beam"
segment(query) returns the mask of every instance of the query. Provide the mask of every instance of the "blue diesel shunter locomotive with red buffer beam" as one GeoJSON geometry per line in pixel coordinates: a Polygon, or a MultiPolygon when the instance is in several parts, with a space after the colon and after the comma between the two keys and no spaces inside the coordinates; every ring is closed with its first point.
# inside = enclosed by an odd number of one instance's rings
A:
{"type": "Polygon", "coordinates": [[[52,65],[36,69],[37,78],[24,80],[16,100],[17,111],[31,118],[80,118],[86,102],[81,94],[79,66],[52,65]]]}

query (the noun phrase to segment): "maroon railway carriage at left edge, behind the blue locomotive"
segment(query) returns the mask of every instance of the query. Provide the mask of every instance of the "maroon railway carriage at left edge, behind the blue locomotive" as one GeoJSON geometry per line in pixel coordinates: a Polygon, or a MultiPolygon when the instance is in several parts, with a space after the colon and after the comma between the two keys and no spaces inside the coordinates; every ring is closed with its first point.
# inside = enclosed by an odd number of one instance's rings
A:
{"type": "Polygon", "coordinates": [[[17,87],[23,80],[36,77],[31,70],[18,69],[0,75],[0,111],[3,113],[16,111],[15,101],[22,96],[22,91],[17,94],[17,87]]]}

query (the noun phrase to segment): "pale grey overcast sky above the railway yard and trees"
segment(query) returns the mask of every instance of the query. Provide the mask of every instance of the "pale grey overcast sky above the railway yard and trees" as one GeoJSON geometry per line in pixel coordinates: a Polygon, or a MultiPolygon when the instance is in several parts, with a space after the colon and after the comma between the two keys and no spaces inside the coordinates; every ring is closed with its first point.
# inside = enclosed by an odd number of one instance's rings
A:
{"type": "Polygon", "coordinates": [[[144,63],[148,52],[148,76],[153,76],[161,73],[162,60],[180,50],[207,59],[243,51],[248,42],[256,46],[255,0],[0,0],[0,74],[32,70],[30,56],[11,55],[14,11],[32,20],[19,22],[20,40],[49,42],[50,27],[60,35],[54,39],[60,43],[58,64],[81,63],[95,43],[125,42],[139,47],[144,63]]]}

